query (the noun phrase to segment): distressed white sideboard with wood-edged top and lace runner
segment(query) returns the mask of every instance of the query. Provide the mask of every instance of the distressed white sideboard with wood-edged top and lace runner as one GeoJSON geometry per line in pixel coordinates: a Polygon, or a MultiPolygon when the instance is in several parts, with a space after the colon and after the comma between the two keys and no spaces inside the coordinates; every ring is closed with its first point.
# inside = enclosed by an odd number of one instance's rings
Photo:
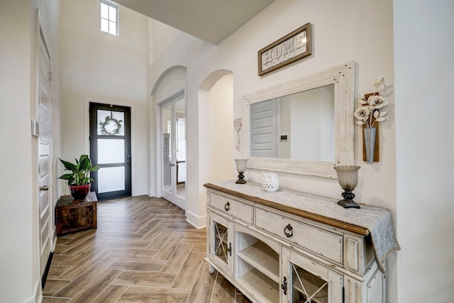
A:
{"type": "Polygon", "coordinates": [[[204,186],[206,260],[253,302],[385,302],[370,231],[299,206],[338,211],[333,199],[234,181],[204,186]]]}

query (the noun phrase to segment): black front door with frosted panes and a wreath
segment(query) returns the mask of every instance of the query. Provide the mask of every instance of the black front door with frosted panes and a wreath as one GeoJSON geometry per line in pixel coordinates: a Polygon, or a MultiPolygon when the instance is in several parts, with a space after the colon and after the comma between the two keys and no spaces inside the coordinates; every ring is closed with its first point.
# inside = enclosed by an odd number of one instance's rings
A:
{"type": "Polygon", "coordinates": [[[90,158],[99,200],[131,196],[131,108],[90,103],[90,158]]]}

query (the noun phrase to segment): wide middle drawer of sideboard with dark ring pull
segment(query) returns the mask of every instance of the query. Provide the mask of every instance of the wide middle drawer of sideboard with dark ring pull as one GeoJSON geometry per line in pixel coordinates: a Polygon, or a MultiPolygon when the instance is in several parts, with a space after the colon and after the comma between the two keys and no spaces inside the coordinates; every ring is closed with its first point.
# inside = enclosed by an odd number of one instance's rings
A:
{"type": "Polygon", "coordinates": [[[299,223],[258,207],[255,209],[255,225],[337,263],[343,262],[343,236],[341,235],[321,231],[314,226],[299,223]]]}

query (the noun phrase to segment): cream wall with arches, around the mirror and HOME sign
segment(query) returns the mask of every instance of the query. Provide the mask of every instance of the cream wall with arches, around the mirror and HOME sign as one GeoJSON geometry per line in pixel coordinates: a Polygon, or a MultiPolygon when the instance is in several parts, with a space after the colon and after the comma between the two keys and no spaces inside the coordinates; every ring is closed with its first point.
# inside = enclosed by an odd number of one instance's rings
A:
{"type": "MultiPolygon", "coordinates": [[[[289,1],[277,0],[258,16],[233,33],[217,46],[179,33],[160,57],[155,57],[148,70],[148,87],[159,79],[168,67],[187,67],[188,102],[188,209],[199,218],[204,215],[206,165],[204,158],[192,157],[203,151],[198,126],[206,125],[209,119],[203,105],[206,96],[199,92],[201,83],[216,70],[231,70],[233,75],[233,99],[235,118],[242,116],[244,94],[269,87],[272,84],[319,72],[333,65],[355,60],[356,88],[358,92],[369,92],[375,87],[374,79],[385,77],[393,87],[393,15],[392,1],[289,1]],[[369,17],[368,17],[369,16],[369,17]],[[380,21],[373,22],[373,21],[380,21]],[[306,22],[314,27],[314,54],[282,69],[258,77],[257,52],[306,22]]],[[[157,43],[157,41],[155,41],[157,43]]],[[[389,120],[380,129],[380,162],[362,162],[360,128],[355,128],[355,160],[361,165],[360,181],[355,189],[357,201],[384,206],[391,209],[396,218],[396,158],[394,95],[389,101],[389,120]]],[[[245,119],[245,117],[243,117],[245,119]]],[[[353,119],[353,118],[352,118],[353,119]]],[[[233,123],[233,121],[231,121],[233,123]]],[[[233,131],[233,129],[232,129],[233,131]]],[[[248,130],[242,129],[241,136],[248,130]]],[[[231,143],[232,148],[234,144],[231,143]]],[[[234,151],[234,158],[245,156],[234,151]]],[[[261,172],[248,170],[248,180],[260,182],[261,172]]],[[[232,178],[235,175],[232,176],[232,178]]],[[[297,189],[327,197],[341,197],[342,189],[336,180],[279,174],[282,187],[297,189]]],[[[193,222],[194,225],[197,225],[193,222]]],[[[399,236],[399,235],[398,235],[399,236]]],[[[397,298],[396,253],[389,260],[389,302],[397,298]]]]}

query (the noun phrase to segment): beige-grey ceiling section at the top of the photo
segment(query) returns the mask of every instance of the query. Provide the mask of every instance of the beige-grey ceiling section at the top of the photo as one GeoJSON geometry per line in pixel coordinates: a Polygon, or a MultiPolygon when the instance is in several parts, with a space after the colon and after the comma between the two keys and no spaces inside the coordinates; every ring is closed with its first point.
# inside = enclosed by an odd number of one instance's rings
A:
{"type": "Polygon", "coordinates": [[[114,0],[217,45],[275,0],[114,0]]]}

